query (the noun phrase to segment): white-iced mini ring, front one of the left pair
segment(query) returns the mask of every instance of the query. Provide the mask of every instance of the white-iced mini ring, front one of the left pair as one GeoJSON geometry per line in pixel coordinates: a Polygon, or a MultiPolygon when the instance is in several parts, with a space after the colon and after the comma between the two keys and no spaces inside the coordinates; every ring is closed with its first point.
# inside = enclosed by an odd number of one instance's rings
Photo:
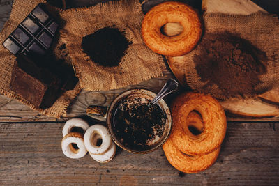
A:
{"type": "Polygon", "coordinates": [[[87,153],[82,134],[79,132],[70,132],[65,137],[63,137],[61,146],[64,155],[73,159],[84,157],[84,155],[87,153]],[[75,149],[73,144],[77,144],[78,149],[75,149]]]}

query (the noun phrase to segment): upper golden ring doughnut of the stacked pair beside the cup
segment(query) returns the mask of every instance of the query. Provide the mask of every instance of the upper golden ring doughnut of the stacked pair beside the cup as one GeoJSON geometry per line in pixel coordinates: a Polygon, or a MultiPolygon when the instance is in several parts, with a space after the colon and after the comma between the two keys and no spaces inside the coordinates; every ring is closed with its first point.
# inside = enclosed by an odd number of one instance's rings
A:
{"type": "Polygon", "coordinates": [[[227,128],[226,116],[219,102],[202,93],[183,93],[172,104],[172,140],[187,155],[205,155],[216,150],[227,128]],[[202,133],[192,134],[187,125],[190,111],[197,111],[204,123],[202,133]],[[184,125],[184,126],[183,126],[184,125]]]}

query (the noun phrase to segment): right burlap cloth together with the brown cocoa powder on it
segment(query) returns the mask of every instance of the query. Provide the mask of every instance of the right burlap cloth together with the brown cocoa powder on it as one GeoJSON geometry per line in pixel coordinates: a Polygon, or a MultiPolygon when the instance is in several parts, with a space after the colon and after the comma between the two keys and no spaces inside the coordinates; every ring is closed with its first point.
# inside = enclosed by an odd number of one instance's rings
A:
{"type": "Polygon", "coordinates": [[[190,88],[227,100],[254,98],[278,86],[278,17],[205,13],[203,18],[199,45],[183,57],[171,58],[183,61],[190,88]]]}

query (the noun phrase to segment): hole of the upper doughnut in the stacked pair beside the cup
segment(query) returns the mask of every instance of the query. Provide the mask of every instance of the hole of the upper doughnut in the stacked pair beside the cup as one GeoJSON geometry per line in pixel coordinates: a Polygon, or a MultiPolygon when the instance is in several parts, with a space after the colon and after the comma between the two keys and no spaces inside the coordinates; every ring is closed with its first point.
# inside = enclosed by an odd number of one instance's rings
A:
{"type": "Polygon", "coordinates": [[[198,111],[191,111],[188,114],[187,119],[186,119],[186,127],[188,128],[190,133],[195,136],[202,133],[203,128],[204,128],[204,123],[202,121],[202,116],[201,116],[201,114],[199,114],[198,111]]]}

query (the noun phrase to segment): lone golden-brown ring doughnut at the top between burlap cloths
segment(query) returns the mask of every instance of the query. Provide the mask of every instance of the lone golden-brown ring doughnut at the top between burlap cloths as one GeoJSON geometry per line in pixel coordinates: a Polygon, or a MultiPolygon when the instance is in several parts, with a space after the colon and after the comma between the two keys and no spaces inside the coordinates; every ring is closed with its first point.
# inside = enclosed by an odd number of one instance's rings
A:
{"type": "Polygon", "coordinates": [[[153,52],[166,56],[182,56],[190,52],[202,36],[198,13],[179,2],[154,6],[142,21],[142,38],[153,52]],[[165,36],[160,29],[167,23],[179,23],[183,31],[177,36],[165,36]]]}

